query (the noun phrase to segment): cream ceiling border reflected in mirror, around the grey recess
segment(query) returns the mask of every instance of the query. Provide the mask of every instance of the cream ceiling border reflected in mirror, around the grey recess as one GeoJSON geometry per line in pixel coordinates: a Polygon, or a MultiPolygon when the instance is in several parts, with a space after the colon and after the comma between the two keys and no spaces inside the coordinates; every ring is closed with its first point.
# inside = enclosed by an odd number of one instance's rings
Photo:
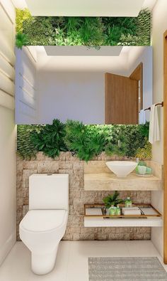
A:
{"type": "Polygon", "coordinates": [[[122,73],[124,75],[129,68],[129,57],[136,60],[145,48],[151,47],[123,47],[120,55],[117,56],[47,55],[43,46],[32,48],[35,48],[32,51],[37,53],[38,68],[41,70],[100,73],[114,71],[115,74],[122,73]]]}

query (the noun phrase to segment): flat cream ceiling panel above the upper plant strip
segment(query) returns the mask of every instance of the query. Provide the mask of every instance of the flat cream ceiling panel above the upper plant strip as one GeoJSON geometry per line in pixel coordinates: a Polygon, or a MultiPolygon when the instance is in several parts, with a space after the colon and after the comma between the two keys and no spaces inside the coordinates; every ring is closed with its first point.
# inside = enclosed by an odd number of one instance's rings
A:
{"type": "Polygon", "coordinates": [[[138,16],[144,0],[26,0],[33,16],[138,16]]]}

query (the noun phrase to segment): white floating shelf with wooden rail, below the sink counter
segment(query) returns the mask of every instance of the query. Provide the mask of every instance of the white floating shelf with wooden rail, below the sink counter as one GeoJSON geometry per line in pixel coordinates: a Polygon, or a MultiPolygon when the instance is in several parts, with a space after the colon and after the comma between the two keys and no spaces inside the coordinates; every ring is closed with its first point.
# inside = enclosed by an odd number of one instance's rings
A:
{"type": "Polygon", "coordinates": [[[133,204],[138,206],[141,215],[110,216],[103,214],[103,204],[84,205],[85,227],[161,227],[163,221],[161,213],[151,204],[133,204]]]}

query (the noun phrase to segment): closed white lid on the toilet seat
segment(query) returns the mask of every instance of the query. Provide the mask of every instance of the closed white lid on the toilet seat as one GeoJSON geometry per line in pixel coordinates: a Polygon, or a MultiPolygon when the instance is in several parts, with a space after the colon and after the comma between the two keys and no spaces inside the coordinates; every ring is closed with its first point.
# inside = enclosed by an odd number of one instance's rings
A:
{"type": "Polygon", "coordinates": [[[66,210],[30,210],[21,221],[21,227],[32,232],[59,228],[67,221],[66,210]]]}

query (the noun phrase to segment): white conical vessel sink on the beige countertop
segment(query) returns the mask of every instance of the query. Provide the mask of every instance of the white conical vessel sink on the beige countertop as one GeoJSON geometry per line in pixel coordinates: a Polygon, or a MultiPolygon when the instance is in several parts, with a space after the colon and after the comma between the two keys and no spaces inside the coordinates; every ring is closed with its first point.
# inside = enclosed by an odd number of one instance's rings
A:
{"type": "Polygon", "coordinates": [[[137,167],[137,162],[133,161],[108,161],[108,168],[117,175],[118,178],[125,178],[137,167]]]}

